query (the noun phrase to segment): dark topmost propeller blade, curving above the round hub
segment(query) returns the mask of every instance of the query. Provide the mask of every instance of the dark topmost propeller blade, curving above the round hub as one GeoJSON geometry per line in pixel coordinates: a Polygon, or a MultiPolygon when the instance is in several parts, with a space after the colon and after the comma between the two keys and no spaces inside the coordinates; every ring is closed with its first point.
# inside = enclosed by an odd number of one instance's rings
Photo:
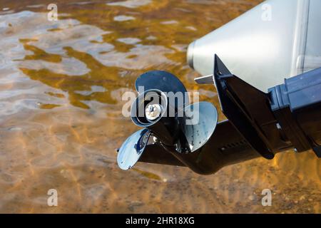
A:
{"type": "Polygon", "coordinates": [[[164,93],[183,93],[184,106],[189,104],[187,90],[183,83],[176,76],[166,71],[148,71],[143,73],[136,79],[135,83],[136,91],[141,93],[142,91],[139,90],[139,87],[143,87],[144,91],[157,89],[164,93]]]}

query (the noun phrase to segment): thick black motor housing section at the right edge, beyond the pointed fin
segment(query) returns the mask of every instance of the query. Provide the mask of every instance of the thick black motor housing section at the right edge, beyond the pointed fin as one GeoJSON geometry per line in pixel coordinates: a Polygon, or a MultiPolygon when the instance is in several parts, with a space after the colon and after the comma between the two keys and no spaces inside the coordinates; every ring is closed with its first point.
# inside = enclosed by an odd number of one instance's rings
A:
{"type": "Polygon", "coordinates": [[[270,88],[271,108],[297,152],[321,156],[321,68],[270,88]]]}

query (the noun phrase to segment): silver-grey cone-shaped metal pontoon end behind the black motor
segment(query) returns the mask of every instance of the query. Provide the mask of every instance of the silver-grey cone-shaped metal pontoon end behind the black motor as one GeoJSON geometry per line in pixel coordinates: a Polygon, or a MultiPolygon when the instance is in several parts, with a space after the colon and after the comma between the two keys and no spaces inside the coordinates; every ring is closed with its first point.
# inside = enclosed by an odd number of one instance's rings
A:
{"type": "Polygon", "coordinates": [[[269,0],[188,47],[188,63],[213,74],[214,54],[235,75],[267,89],[321,66],[321,1],[269,0]]]}

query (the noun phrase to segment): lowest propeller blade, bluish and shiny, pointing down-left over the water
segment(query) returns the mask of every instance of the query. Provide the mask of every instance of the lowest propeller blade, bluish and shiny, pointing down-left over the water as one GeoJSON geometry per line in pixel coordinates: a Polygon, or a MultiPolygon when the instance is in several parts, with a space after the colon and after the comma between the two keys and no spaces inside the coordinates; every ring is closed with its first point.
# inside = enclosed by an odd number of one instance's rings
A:
{"type": "Polygon", "coordinates": [[[138,162],[150,136],[151,131],[144,128],[133,133],[123,142],[117,155],[117,163],[122,170],[129,170],[138,162]]]}

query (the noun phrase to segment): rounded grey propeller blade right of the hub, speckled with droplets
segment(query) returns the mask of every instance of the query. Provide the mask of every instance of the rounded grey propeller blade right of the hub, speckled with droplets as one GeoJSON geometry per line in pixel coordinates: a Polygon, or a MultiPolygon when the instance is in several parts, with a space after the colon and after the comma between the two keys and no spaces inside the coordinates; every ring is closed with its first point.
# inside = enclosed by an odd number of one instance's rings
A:
{"type": "Polygon", "coordinates": [[[218,111],[212,103],[200,102],[188,105],[184,113],[181,130],[188,142],[189,152],[194,152],[213,135],[218,124],[218,111]]]}

